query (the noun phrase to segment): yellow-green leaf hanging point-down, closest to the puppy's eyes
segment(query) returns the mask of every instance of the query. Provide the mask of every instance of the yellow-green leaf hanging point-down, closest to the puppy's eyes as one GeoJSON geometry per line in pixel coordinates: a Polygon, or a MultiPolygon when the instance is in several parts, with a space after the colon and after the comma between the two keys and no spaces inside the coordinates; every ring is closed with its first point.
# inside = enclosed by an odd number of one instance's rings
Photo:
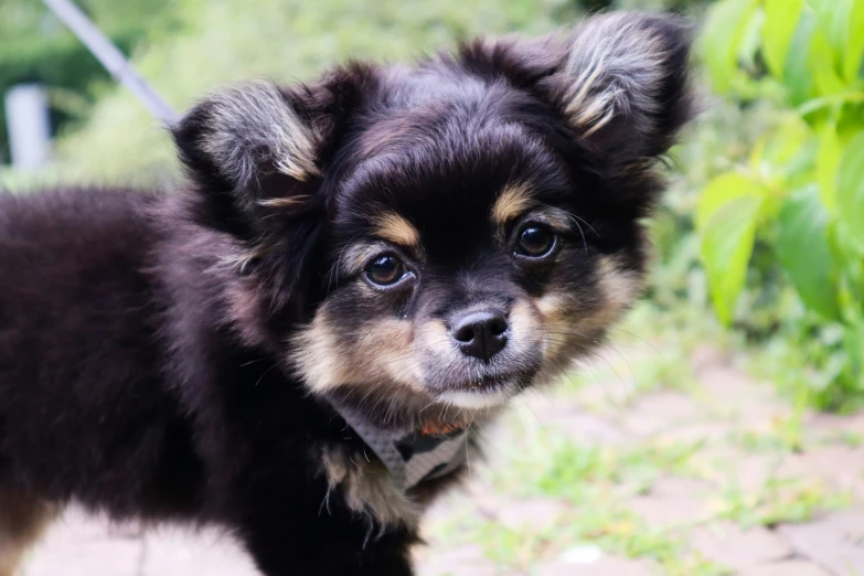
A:
{"type": "Polygon", "coordinates": [[[717,316],[729,324],[747,277],[762,204],[757,194],[739,195],[719,206],[705,224],[701,256],[717,316]]]}

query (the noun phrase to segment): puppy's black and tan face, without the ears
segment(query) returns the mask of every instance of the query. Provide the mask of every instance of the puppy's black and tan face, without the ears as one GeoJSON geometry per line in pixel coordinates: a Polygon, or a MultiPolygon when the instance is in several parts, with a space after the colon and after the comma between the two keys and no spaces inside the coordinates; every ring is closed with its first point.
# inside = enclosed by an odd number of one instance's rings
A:
{"type": "Polygon", "coordinates": [[[358,134],[334,194],[331,289],[295,341],[313,388],[497,405],[594,348],[636,296],[633,223],[604,243],[608,225],[574,193],[587,180],[519,122],[530,100],[471,82],[424,86],[427,105],[358,134]]]}

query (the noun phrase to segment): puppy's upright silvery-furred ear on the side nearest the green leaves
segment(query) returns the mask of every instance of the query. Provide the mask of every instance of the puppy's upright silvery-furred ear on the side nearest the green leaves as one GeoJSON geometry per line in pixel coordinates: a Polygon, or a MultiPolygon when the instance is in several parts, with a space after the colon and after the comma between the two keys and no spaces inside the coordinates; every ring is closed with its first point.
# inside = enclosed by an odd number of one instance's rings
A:
{"type": "Polygon", "coordinates": [[[576,132],[599,153],[632,163],[665,153],[691,118],[691,26],[679,17],[615,12],[589,18],[544,81],[576,132]]]}

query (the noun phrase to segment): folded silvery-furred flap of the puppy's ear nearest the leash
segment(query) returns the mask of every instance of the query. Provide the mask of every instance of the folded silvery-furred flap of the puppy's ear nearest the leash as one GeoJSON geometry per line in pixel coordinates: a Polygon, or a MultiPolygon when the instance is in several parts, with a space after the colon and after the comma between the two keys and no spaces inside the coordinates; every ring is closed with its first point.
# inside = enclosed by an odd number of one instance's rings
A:
{"type": "Polygon", "coordinates": [[[292,96],[269,82],[238,85],[172,127],[201,224],[257,241],[268,205],[308,199],[321,136],[292,96]]]}

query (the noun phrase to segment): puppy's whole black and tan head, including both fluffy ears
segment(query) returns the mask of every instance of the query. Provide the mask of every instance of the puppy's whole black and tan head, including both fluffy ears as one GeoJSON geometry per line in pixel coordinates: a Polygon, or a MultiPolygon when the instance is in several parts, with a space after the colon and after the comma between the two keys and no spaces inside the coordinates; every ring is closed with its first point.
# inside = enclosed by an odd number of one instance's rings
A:
{"type": "Polygon", "coordinates": [[[312,392],[497,406],[637,297],[687,49],[680,21],[617,13],[215,94],[174,128],[194,217],[232,238],[262,316],[303,317],[269,326],[312,392]]]}

